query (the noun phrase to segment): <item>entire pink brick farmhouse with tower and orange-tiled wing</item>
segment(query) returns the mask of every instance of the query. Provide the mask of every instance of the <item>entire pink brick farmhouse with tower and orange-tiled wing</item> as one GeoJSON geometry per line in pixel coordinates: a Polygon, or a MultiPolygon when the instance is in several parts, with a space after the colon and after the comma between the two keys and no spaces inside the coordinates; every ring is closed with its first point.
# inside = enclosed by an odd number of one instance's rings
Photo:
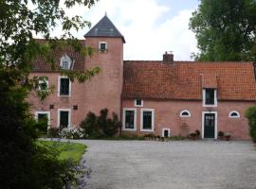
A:
{"type": "Polygon", "coordinates": [[[85,83],[70,82],[52,72],[44,60],[34,63],[32,76],[47,76],[54,94],[41,102],[30,94],[31,112],[48,117],[50,127],[78,127],[87,112],[107,108],[116,112],[122,130],[131,134],[188,135],[196,129],[202,138],[218,131],[248,139],[247,107],[255,104],[253,62],[123,60],[124,37],[104,16],[82,40],[96,50],[92,58],[65,47],[55,53],[62,69],[82,71],[95,66],[101,73],[85,83]]]}

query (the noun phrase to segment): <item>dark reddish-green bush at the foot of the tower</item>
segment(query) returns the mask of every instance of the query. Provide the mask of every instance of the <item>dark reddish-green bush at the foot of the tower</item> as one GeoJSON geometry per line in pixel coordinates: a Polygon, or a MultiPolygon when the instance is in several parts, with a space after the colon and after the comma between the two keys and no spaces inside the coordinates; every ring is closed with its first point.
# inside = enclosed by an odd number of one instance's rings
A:
{"type": "Polygon", "coordinates": [[[86,132],[89,138],[105,138],[115,136],[120,127],[117,113],[112,113],[112,119],[107,116],[108,110],[101,110],[97,116],[94,112],[88,112],[86,118],[81,122],[80,127],[86,132]]]}

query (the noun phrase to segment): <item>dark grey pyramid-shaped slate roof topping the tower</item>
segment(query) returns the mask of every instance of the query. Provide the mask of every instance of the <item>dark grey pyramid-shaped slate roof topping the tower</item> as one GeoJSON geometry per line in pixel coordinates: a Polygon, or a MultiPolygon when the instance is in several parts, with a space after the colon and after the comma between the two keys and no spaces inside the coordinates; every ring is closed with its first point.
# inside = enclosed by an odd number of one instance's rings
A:
{"type": "Polygon", "coordinates": [[[111,22],[107,15],[84,35],[84,38],[87,37],[121,38],[122,42],[125,43],[123,35],[121,35],[119,29],[111,22]]]}

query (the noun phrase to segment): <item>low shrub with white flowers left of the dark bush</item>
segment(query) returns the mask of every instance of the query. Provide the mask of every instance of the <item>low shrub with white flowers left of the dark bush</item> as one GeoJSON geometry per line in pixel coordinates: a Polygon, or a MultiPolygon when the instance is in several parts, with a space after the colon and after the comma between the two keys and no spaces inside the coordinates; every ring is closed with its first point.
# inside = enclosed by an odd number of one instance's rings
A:
{"type": "Polygon", "coordinates": [[[60,136],[66,139],[82,139],[84,138],[84,129],[82,128],[65,128],[60,131],[60,136]]]}

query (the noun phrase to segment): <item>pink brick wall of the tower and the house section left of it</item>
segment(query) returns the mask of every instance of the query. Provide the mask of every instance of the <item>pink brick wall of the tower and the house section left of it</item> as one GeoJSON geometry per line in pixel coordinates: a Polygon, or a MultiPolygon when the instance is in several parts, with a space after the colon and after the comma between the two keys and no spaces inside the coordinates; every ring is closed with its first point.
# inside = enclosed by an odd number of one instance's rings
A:
{"type": "Polygon", "coordinates": [[[32,73],[30,76],[47,76],[48,85],[55,86],[54,94],[51,94],[45,101],[41,102],[36,94],[30,94],[28,101],[31,106],[31,113],[39,111],[50,112],[51,127],[58,125],[58,109],[71,110],[71,125],[78,126],[87,112],[96,112],[104,108],[118,113],[120,117],[120,94],[122,90],[122,59],[123,43],[119,38],[90,38],[86,40],[86,45],[98,49],[99,42],[107,42],[108,51],[100,53],[96,50],[92,58],[86,58],[85,67],[90,69],[95,66],[101,68],[101,73],[85,83],[75,81],[71,84],[71,96],[58,96],[59,73],[32,73]],[[49,105],[53,104],[54,109],[49,110],[49,105]],[[78,105],[78,110],[73,110],[73,106],[78,105]]]}

